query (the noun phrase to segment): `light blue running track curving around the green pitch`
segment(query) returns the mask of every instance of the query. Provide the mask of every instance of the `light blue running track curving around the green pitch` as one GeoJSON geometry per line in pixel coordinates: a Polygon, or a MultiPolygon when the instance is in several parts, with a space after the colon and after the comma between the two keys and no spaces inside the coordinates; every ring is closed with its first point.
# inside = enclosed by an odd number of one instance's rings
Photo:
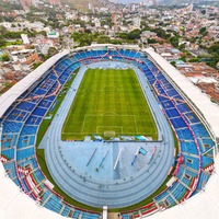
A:
{"type": "MultiPolygon", "coordinates": [[[[85,66],[81,67],[78,72],[39,146],[45,149],[48,170],[59,187],[72,198],[90,206],[102,208],[106,205],[108,208],[118,208],[134,205],[158,189],[166,178],[173,164],[174,139],[170,125],[151,92],[145,74],[137,67],[130,66],[136,71],[145,96],[151,107],[158,127],[159,139],[163,138],[161,142],[157,142],[158,149],[149,165],[140,169],[126,180],[101,181],[88,177],[84,182],[83,173],[80,170],[72,169],[66,162],[61,154],[61,148],[68,142],[60,140],[61,127],[87,70],[85,66]]],[[[77,141],[73,143],[77,143],[77,141]]],[[[110,147],[113,143],[115,142],[111,142],[110,147]]]]}

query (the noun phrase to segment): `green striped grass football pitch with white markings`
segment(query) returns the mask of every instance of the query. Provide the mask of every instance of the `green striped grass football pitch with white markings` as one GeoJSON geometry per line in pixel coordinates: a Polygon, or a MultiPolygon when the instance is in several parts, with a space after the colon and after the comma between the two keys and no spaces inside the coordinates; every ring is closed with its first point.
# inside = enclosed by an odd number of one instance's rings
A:
{"type": "Polygon", "coordinates": [[[88,69],[62,127],[62,140],[85,136],[158,138],[155,123],[132,69],[88,69]]]}

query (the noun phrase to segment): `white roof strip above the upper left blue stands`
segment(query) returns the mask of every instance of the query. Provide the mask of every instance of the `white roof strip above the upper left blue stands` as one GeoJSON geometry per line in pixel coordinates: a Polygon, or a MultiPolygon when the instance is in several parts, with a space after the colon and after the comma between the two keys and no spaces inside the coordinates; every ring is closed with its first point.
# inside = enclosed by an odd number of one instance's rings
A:
{"type": "Polygon", "coordinates": [[[44,65],[39,66],[37,69],[27,74],[23,80],[14,84],[8,92],[0,96],[0,117],[9,108],[9,106],[24,92],[26,91],[35,81],[37,81],[50,67],[56,64],[62,56],[69,54],[69,50],[64,50],[56,56],[46,60],[44,65]]]}

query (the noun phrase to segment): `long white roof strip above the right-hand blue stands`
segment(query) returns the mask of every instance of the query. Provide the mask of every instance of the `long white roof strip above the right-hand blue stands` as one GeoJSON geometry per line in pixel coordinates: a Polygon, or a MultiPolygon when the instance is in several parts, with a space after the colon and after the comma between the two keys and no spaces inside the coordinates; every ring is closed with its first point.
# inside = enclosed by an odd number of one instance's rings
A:
{"type": "Polygon", "coordinates": [[[211,131],[219,138],[219,107],[216,103],[210,101],[210,97],[201,93],[201,90],[194,85],[189,79],[183,76],[177,69],[175,69],[163,57],[157,54],[152,48],[145,49],[151,58],[165,71],[165,73],[177,84],[177,87],[184,92],[186,97],[191,100],[200,114],[204,115],[211,131]]]}

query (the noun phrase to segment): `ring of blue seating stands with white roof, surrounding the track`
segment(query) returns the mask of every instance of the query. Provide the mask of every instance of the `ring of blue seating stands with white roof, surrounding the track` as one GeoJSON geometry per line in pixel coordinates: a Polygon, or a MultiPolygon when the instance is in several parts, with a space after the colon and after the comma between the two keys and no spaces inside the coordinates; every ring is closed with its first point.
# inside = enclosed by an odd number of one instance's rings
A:
{"type": "Polygon", "coordinates": [[[151,48],[128,45],[93,45],[61,51],[0,96],[0,217],[101,217],[100,212],[70,206],[53,191],[37,164],[35,142],[39,124],[71,72],[103,60],[128,62],[141,70],[180,145],[171,185],[152,203],[122,212],[122,217],[217,218],[218,106],[151,48]]]}

